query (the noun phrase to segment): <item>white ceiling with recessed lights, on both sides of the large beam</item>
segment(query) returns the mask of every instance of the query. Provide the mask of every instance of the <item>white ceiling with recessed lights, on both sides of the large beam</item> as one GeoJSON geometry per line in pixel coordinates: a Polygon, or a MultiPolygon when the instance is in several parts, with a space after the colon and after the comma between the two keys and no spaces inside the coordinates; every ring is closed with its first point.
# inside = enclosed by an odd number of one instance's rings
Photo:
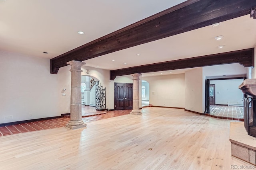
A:
{"type": "MultiPolygon", "coordinates": [[[[52,59],[184,1],[0,0],[0,50],[52,59]],[[77,31],[85,34],[79,35],[77,31]]],[[[114,70],[247,49],[255,47],[255,30],[256,20],[247,15],[224,21],[218,27],[210,25],[85,62],[88,66],[114,70]],[[215,40],[218,35],[224,38],[215,40]],[[225,47],[218,49],[218,45],[225,47]]],[[[166,71],[170,72],[184,70],[166,71]]]]}

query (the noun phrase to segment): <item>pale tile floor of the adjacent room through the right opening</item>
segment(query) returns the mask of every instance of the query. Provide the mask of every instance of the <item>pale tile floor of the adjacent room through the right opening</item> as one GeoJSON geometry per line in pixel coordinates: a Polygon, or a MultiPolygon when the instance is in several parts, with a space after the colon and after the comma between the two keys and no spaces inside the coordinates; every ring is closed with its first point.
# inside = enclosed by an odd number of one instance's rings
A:
{"type": "Polygon", "coordinates": [[[210,115],[215,115],[218,117],[230,117],[234,119],[244,119],[244,107],[211,105],[210,115]]]}

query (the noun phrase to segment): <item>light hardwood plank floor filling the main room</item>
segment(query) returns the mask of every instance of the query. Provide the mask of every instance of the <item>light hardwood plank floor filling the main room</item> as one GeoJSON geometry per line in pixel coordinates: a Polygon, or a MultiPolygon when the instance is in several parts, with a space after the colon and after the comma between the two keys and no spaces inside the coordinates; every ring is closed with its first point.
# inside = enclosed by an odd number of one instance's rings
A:
{"type": "Polygon", "coordinates": [[[222,120],[146,107],[143,115],[0,137],[1,170],[230,170],[250,164],[231,156],[222,120]],[[152,148],[152,150],[148,150],[152,148]]]}

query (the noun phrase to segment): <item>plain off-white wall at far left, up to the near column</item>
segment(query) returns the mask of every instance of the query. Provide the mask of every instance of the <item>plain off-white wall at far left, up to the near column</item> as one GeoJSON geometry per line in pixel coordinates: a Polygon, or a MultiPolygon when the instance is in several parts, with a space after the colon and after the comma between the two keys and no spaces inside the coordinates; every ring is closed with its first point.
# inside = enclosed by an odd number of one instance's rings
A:
{"type": "Polygon", "coordinates": [[[6,51],[0,51],[0,58],[0,123],[65,113],[70,98],[61,93],[63,88],[70,91],[70,83],[58,81],[68,75],[50,74],[50,59],[6,51]]]}

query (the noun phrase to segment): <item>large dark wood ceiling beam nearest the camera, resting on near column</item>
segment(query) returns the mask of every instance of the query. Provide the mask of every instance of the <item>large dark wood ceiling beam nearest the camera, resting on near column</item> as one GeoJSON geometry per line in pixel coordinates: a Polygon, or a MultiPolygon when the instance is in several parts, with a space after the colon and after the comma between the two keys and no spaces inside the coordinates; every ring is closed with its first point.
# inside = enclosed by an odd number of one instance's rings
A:
{"type": "Polygon", "coordinates": [[[188,0],[51,59],[51,73],[71,60],[85,61],[247,15],[255,5],[255,0],[188,0]]]}

